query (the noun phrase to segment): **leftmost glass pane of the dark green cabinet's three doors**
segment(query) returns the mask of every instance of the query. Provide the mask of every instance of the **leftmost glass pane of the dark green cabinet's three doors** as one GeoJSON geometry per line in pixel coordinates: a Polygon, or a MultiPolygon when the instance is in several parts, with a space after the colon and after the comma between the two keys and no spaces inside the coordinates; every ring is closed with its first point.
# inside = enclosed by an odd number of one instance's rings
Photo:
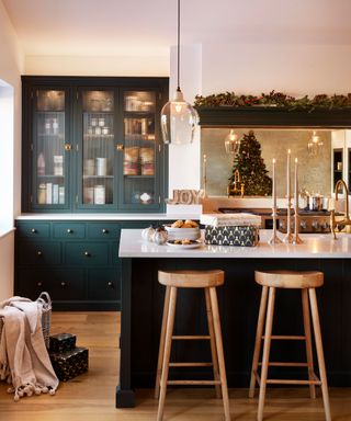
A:
{"type": "Polygon", "coordinates": [[[33,94],[33,100],[32,206],[67,208],[71,152],[67,125],[67,91],[38,89],[33,94]]]}

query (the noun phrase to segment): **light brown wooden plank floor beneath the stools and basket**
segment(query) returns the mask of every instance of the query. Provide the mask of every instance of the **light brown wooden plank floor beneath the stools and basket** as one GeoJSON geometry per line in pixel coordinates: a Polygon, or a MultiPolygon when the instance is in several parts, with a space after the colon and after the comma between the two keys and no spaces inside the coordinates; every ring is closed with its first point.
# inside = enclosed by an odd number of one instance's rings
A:
{"type": "MultiPolygon", "coordinates": [[[[120,314],[54,312],[52,333],[77,334],[78,345],[89,348],[89,373],[61,383],[56,396],[34,396],[13,401],[7,385],[0,383],[0,420],[2,421],[147,421],[155,420],[157,401],[152,390],[137,392],[137,407],[115,408],[117,383],[117,333],[120,314]]],[[[318,390],[319,391],[319,390],[318,390]]],[[[256,420],[257,399],[247,389],[230,389],[233,420],[256,420]]],[[[351,388],[330,389],[335,421],[351,421],[351,388]]],[[[320,392],[316,400],[308,389],[269,389],[265,419],[272,421],[324,420],[320,392]]],[[[165,421],[223,420],[222,401],[212,389],[170,389],[166,399],[165,421]]]]}

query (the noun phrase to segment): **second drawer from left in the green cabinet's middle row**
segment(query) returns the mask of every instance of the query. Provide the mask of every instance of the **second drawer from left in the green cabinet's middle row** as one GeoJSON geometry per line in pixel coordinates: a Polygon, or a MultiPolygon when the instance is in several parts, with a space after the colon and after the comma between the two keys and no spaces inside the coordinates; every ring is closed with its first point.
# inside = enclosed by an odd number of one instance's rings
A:
{"type": "Polygon", "coordinates": [[[109,244],[105,242],[67,243],[66,263],[79,265],[107,264],[109,244]]]}

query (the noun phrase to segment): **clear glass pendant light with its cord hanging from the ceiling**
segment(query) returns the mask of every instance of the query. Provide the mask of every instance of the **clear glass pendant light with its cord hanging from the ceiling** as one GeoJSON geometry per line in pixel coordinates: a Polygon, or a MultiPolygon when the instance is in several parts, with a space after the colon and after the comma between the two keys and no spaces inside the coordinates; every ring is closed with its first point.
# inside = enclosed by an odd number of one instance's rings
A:
{"type": "Polygon", "coordinates": [[[177,91],[173,101],[168,101],[161,110],[161,129],[165,144],[185,145],[194,139],[199,114],[184,101],[180,90],[180,0],[178,0],[177,35],[177,91]]]}

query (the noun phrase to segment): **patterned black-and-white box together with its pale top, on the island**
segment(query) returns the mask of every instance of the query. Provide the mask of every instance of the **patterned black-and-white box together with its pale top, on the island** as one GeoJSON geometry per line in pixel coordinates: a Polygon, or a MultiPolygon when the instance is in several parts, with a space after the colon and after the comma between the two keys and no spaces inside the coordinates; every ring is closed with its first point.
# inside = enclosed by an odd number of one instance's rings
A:
{"type": "Polygon", "coordinates": [[[251,214],[207,214],[201,216],[205,225],[205,243],[254,247],[259,242],[261,217],[251,214]]]}

